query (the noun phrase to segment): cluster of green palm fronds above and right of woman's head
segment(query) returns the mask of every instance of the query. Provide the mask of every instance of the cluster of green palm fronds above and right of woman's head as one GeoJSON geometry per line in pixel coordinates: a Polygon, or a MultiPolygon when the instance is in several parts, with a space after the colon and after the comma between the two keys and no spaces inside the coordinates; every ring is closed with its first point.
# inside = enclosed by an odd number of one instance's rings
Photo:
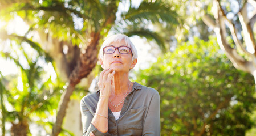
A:
{"type": "Polygon", "coordinates": [[[172,7],[172,3],[166,1],[142,1],[139,7],[130,4],[129,10],[121,14],[122,18],[116,20],[115,31],[127,36],[145,37],[148,41],[154,40],[162,52],[166,52],[166,37],[170,35],[162,35],[157,27],[164,25],[165,29],[174,29],[180,23],[172,7]],[[152,26],[155,28],[150,29],[152,26]]]}

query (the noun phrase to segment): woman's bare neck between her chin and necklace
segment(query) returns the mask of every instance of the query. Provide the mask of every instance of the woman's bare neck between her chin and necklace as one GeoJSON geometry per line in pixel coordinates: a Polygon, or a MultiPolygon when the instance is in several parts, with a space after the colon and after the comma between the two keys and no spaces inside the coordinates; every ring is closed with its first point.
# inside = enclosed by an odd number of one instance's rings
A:
{"type": "Polygon", "coordinates": [[[112,95],[119,96],[127,92],[129,88],[129,73],[115,73],[113,77],[112,95]]]}

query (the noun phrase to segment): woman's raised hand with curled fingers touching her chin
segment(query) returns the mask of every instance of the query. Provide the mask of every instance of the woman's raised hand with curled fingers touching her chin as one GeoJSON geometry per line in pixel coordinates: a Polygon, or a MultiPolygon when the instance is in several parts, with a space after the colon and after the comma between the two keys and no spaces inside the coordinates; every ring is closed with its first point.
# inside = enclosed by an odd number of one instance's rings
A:
{"type": "Polygon", "coordinates": [[[115,74],[115,71],[112,71],[112,68],[105,69],[100,73],[100,79],[97,83],[100,89],[100,97],[107,97],[111,95],[111,80],[115,74]]]}

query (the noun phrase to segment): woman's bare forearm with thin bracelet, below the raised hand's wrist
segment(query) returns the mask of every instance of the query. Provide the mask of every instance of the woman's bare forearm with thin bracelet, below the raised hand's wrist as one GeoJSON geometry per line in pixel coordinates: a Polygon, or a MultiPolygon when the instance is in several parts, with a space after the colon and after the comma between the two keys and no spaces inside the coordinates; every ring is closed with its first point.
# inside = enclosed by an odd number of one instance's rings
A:
{"type": "Polygon", "coordinates": [[[108,117],[108,97],[100,97],[96,113],[92,118],[92,125],[103,133],[108,131],[108,118],[106,117],[108,117]]]}

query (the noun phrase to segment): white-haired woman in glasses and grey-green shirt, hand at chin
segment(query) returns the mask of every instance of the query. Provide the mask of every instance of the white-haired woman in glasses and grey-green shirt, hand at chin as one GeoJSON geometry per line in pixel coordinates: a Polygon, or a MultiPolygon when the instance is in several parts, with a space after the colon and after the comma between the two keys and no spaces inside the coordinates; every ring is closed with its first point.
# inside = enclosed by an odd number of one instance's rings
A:
{"type": "Polygon", "coordinates": [[[80,103],[83,135],[160,135],[158,92],[129,80],[137,51],[123,34],[109,37],[100,48],[99,90],[80,103]]]}

